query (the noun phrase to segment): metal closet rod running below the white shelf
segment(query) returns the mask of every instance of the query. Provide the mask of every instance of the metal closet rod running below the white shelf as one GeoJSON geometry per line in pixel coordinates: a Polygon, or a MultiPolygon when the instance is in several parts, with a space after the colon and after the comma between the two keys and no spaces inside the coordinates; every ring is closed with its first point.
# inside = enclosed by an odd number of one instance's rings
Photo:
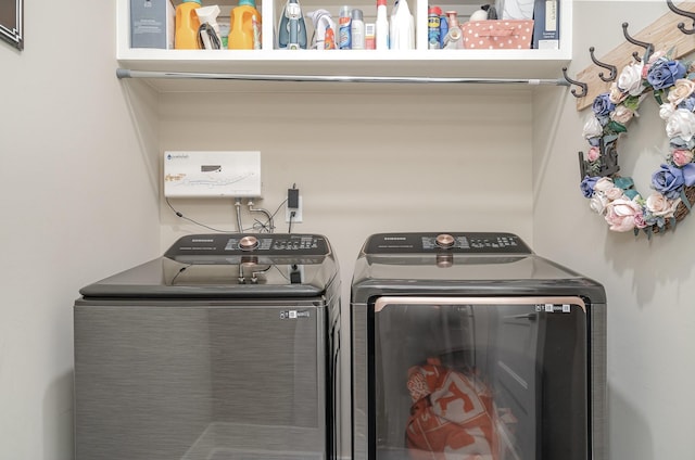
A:
{"type": "Polygon", "coordinates": [[[122,78],[169,78],[201,80],[247,80],[247,81],[342,81],[342,82],[388,82],[388,84],[496,84],[496,85],[552,85],[569,86],[565,78],[463,78],[463,77],[357,77],[332,75],[263,75],[223,74],[199,72],[156,72],[116,68],[116,77],[122,78]]]}

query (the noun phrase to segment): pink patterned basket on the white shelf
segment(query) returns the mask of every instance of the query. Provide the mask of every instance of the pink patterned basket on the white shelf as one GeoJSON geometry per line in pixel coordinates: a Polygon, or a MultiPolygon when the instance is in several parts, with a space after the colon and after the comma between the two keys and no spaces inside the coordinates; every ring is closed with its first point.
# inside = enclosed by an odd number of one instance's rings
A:
{"type": "Polygon", "coordinates": [[[469,21],[462,24],[464,48],[469,50],[528,50],[533,21],[469,21]]]}

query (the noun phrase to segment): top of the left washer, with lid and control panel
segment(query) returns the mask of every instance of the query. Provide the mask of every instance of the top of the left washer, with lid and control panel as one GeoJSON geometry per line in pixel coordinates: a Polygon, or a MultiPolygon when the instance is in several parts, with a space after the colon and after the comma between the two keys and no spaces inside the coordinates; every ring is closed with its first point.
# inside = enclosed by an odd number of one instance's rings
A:
{"type": "Polygon", "coordinates": [[[85,286],[85,297],[267,298],[323,295],[338,277],[315,234],[195,234],[164,256],[85,286]]]}

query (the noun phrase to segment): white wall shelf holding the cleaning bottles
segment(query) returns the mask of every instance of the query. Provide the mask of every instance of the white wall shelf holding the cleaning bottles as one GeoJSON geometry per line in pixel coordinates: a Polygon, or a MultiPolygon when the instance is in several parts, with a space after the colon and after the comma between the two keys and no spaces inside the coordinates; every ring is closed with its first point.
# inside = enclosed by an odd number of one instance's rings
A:
{"type": "MultiPolygon", "coordinates": [[[[365,21],[376,14],[376,0],[363,8],[365,21]],[[374,5],[372,5],[374,3],[374,5]]],[[[416,16],[416,33],[426,33],[427,0],[408,0],[416,16]],[[421,21],[420,21],[421,20],[421,21]]],[[[451,1],[451,0],[447,0],[451,1]]],[[[231,9],[230,0],[220,5],[223,14],[231,9]]],[[[464,3],[479,4],[465,0],[464,3]]],[[[307,0],[302,2],[306,14],[315,8],[337,11],[340,0],[307,0]],[[328,3],[328,5],[326,5],[328,3]]],[[[391,2],[390,2],[391,3],[391,2]]],[[[437,2],[432,2],[438,4],[437,2]]],[[[278,50],[273,49],[275,24],[263,22],[261,50],[155,50],[129,47],[129,0],[117,0],[116,58],[123,68],[156,72],[195,72],[233,74],[282,74],[326,76],[406,76],[406,77],[471,77],[471,78],[561,78],[561,67],[571,60],[571,1],[563,0],[560,9],[559,50],[278,50]]],[[[203,4],[215,4],[204,1],[203,4]]],[[[233,2],[236,4],[236,2],[233,2]]],[[[350,2],[348,4],[351,4],[350,2]]],[[[283,1],[265,1],[260,11],[265,17],[278,17],[283,1]]],[[[442,9],[460,9],[439,3],[442,9]]],[[[307,20],[307,29],[311,21],[307,20]]],[[[311,37],[311,33],[309,33],[311,37]]],[[[418,44],[425,40],[416,40],[418,44]]],[[[161,90],[180,90],[181,82],[161,86],[161,90]]]]}

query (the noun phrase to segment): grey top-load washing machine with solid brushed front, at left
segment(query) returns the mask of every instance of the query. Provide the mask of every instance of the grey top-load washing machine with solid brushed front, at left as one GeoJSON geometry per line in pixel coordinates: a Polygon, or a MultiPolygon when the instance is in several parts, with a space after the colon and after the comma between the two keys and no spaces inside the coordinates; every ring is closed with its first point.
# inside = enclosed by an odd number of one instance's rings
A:
{"type": "Polygon", "coordinates": [[[77,460],[324,460],[340,277],[316,234],[195,234],[80,290],[77,460]]]}

